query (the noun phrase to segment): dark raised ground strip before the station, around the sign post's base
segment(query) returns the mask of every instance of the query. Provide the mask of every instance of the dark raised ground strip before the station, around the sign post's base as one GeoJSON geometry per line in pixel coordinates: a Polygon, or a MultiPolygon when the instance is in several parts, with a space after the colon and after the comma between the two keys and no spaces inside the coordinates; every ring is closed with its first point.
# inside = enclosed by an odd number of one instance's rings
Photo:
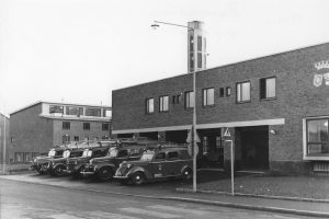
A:
{"type": "MultiPolygon", "coordinates": [[[[198,173],[197,189],[212,193],[231,193],[230,175],[218,171],[198,173]]],[[[182,188],[192,188],[184,186],[182,188]]],[[[290,199],[328,200],[329,176],[287,176],[236,173],[235,193],[249,196],[274,196],[290,199]]]]}

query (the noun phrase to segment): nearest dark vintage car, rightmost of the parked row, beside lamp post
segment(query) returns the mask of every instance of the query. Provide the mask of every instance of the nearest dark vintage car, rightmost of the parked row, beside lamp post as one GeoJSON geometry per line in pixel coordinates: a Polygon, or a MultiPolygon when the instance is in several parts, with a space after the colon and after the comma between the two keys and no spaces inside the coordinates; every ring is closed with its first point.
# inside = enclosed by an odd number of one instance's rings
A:
{"type": "Polygon", "coordinates": [[[138,161],[125,161],[115,172],[114,178],[122,184],[140,185],[159,178],[193,177],[193,161],[186,148],[162,147],[147,150],[138,161]]]}

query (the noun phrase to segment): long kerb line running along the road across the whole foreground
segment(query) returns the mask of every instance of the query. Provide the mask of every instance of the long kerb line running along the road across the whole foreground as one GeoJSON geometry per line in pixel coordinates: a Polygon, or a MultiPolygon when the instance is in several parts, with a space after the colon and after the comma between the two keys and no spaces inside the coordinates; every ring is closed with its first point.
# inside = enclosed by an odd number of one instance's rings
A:
{"type": "Polygon", "coordinates": [[[138,195],[138,194],[129,194],[129,193],[117,193],[117,192],[99,191],[99,189],[90,189],[90,188],[81,188],[81,187],[43,184],[43,183],[36,183],[36,182],[18,181],[18,180],[12,180],[12,178],[3,178],[3,180],[20,182],[20,183],[29,183],[29,184],[37,184],[37,185],[68,188],[68,189],[73,189],[73,191],[87,191],[87,192],[93,192],[93,193],[103,193],[103,194],[112,194],[112,195],[121,195],[121,196],[133,196],[133,197],[152,198],[152,199],[160,199],[160,200],[175,200],[175,201],[185,201],[185,203],[194,203],[194,204],[202,204],[202,205],[240,208],[240,209],[248,209],[248,210],[260,210],[260,211],[291,214],[291,215],[298,215],[298,216],[329,218],[329,212],[320,212],[320,211],[307,211],[307,210],[276,208],[276,207],[268,207],[268,206],[251,206],[251,205],[243,205],[243,204],[234,204],[234,203],[224,203],[224,201],[216,201],[216,200],[204,200],[204,199],[197,199],[197,198],[184,198],[184,197],[174,197],[174,196],[156,197],[156,196],[149,196],[149,195],[138,195]]]}

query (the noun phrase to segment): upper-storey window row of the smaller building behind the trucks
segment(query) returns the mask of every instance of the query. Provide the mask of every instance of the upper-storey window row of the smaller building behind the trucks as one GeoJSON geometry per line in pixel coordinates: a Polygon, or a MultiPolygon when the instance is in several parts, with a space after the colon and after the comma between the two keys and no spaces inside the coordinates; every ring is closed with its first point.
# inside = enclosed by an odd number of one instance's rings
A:
{"type": "Polygon", "coordinates": [[[63,114],[71,116],[93,116],[93,117],[111,117],[112,111],[106,108],[95,107],[79,107],[79,106],[61,106],[50,105],[49,114],[63,114]]]}

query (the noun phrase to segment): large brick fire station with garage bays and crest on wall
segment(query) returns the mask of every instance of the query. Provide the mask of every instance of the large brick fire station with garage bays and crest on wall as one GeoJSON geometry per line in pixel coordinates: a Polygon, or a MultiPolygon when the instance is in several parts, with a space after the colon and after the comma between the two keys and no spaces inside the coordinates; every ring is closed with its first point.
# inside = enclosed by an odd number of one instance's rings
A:
{"type": "Polygon", "coordinates": [[[329,172],[329,43],[112,92],[113,134],[186,142],[196,107],[198,165],[329,172]]]}

